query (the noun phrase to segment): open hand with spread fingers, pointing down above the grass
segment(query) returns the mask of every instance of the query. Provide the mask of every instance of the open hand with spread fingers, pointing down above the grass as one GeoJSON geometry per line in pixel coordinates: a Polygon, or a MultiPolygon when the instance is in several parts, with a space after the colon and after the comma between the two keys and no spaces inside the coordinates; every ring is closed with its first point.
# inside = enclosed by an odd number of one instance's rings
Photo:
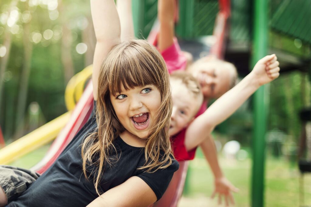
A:
{"type": "Polygon", "coordinates": [[[239,189],[236,188],[227,178],[221,177],[215,179],[215,190],[211,195],[211,198],[214,198],[218,194],[218,204],[221,204],[221,197],[225,197],[225,204],[229,206],[230,204],[234,205],[234,198],[232,196],[233,192],[238,192],[239,189]]]}

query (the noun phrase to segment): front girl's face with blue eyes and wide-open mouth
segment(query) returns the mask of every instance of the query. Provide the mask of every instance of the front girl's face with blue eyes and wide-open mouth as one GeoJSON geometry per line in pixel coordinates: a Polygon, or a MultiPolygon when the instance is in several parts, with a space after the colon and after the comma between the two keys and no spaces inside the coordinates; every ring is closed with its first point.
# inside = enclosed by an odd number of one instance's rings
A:
{"type": "Polygon", "coordinates": [[[125,90],[121,86],[121,92],[110,95],[110,100],[123,127],[136,137],[147,138],[161,104],[158,88],[146,85],[125,90]]]}

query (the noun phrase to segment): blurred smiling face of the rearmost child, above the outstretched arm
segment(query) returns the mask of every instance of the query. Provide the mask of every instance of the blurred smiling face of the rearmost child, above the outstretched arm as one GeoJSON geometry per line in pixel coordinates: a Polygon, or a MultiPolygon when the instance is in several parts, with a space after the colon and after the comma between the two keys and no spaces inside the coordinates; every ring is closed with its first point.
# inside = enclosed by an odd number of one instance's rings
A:
{"type": "Polygon", "coordinates": [[[201,63],[191,73],[200,83],[204,99],[218,98],[229,90],[231,73],[219,63],[201,63]]]}

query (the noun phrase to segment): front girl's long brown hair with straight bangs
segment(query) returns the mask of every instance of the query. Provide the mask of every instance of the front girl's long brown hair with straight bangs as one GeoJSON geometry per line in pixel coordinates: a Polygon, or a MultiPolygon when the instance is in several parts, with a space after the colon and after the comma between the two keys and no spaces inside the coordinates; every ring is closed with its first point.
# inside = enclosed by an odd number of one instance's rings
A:
{"type": "Polygon", "coordinates": [[[88,165],[95,165],[98,170],[94,184],[99,195],[98,185],[105,164],[111,165],[116,161],[109,157],[111,151],[116,151],[113,141],[125,130],[115,114],[110,94],[121,92],[121,86],[128,90],[148,84],[153,84],[159,89],[161,105],[146,140],[146,163],[138,169],[154,172],[172,163],[173,155],[167,130],[172,113],[172,98],[165,62],[156,48],[146,40],[134,39],[120,43],[111,49],[100,69],[96,104],[98,126],[94,133],[85,138],[81,150],[86,178],[88,165]],[[97,157],[99,159],[96,160],[97,157]]]}

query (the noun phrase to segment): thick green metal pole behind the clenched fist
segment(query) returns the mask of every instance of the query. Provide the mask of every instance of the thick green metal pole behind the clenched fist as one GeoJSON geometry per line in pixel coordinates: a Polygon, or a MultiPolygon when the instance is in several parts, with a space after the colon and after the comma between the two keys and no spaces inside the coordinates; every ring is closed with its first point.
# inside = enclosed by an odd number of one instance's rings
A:
{"type": "MultiPolygon", "coordinates": [[[[254,0],[254,6],[252,66],[259,59],[267,55],[268,44],[267,0],[254,0]]],[[[269,101],[267,93],[265,93],[267,87],[260,87],[253,96],[255,114],[253,130],[252,207],[262,207],[264,205],[265,134],[267,130],[267,108],[269,101]]]]}

